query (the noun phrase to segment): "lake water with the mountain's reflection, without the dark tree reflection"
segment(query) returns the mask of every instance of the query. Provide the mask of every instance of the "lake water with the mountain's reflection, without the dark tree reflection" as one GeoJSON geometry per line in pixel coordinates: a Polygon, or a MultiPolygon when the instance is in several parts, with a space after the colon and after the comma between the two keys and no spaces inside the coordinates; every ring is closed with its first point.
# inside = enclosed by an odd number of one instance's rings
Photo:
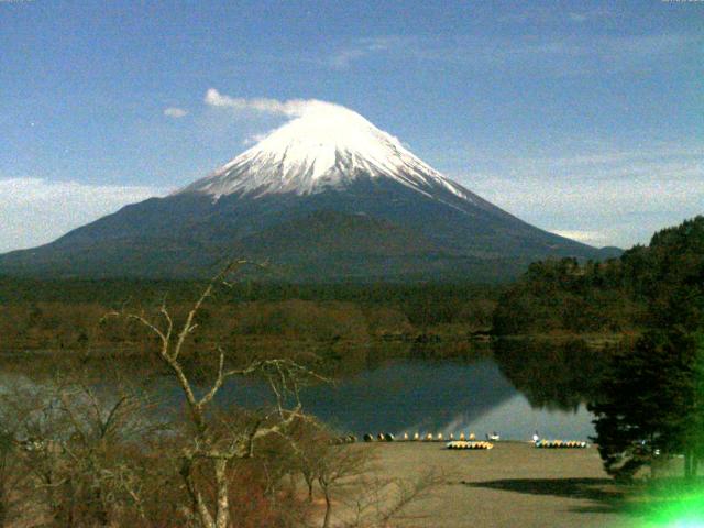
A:
{"type": "MultiPolygon", "coordinates": [[[[257,383],[228,386],[223,399],[261,405],[266,394],[257,383]]],[[[529,403],[502,373],[496,361],[470,364],[396,360],[339,382],[302,391],[304,407],[343,432],[443,435],[498,432],[503,439],[587,440],[592,415],[583,404],[573,409],[529,403]]]]}

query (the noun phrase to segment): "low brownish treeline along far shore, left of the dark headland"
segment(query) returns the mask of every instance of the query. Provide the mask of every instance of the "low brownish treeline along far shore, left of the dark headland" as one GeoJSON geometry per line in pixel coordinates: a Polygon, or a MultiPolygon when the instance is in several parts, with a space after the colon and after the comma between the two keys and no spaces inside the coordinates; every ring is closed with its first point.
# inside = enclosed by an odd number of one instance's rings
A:
{"type": "MultiPolygon", "coordinates": [[[[158,307],[183,315],[202,283],[0,279],[0,351],[78,349],[124,342],[122,329],[99,324],[109,311],[158,307]]],[[[449,285],[234,284],[200,315],[200,339],[228,342],[369,342],[421,334],[486,331],[499,290],[449,285]]],[[[131,341],[139,343],[139,336],[131,341]]]]}

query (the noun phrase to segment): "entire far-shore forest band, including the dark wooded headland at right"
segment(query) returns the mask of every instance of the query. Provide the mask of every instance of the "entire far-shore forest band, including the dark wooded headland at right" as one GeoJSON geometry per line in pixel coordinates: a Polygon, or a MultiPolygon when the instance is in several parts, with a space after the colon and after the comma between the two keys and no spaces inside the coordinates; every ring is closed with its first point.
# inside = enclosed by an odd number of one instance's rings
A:
{"type": "MultiPolygon", "coordinates": [[[[652,324],[697,317],[703,217],[668,228],[618,258],[536,262],[515,283],[286,284],[239,282],[200,318],[205,341],[265,339],[370,343],[473,337],[635,337],[652,324]],[[683,279],[682,277],[685,276],[683,279]],[[684,280],[684,283],[683,283],[684,280]],[[652,309],[652,306],[667,309],[652,309]],[[696,302],[695,302],[696,304],[696,302]]],[[[0,277],[0,351],[114,346],[124,333],[98,322],[120,307],[165,300],[178,312],[198,280],[0,277]]],[[[134,343],[138,340],[133,340],[134,343]]],[[[130,345],[128,340],[125,344],[130,345]]]]}

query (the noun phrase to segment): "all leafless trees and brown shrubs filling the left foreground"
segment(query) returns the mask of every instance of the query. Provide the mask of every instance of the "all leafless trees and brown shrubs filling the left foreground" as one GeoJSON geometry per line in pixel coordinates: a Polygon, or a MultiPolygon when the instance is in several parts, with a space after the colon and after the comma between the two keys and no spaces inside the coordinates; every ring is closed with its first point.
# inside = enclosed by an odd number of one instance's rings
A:
{"type": "Polygon", "coordinates": [[[364,452],[304,411],[299,388],[326,383],[310,354],[242,359],[199,345],[198,321],[231,271],[180,316],[165,302],[106,315],[142,332],[152,376],[131,380],[107,358],[100,372],[84,369],[74,354],[48,383],[2,386],[0,526],[327,528],[342,494],[356,504],[344,526],[387,526],[432,483],[367,477],[364,452]],[[155,376],[174,381],[179,403],[150,396],[155,376]],[[243,376],[265,381],[272,403],[217,404],[243,376]]]}

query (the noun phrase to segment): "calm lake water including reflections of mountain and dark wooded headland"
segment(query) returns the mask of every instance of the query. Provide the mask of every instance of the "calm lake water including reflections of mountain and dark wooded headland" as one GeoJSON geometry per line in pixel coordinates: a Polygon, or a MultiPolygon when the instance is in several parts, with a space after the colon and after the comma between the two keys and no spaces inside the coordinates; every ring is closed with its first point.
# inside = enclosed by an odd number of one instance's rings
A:
{"type": "MultiPolygon", "coordinates": [[[[306,387],[301,400],[308,413],[359,437],[474,432],[483,439],[496,431],[503,439],[528,440],[538,431],[543,438],[587,440],[594,429],[584,400],[600,358],[579,342],[532,342],[496,345],[493,353],[464,361],[392,359],[345,374],[334,385],[306,387]]],[[[22,362],[29,369],[33,363],[25,354],[22,362]]],[[[3,373],[0,365],[0,386],[20,377],[33,375],[16,369],[3,373]]],[[[165,405],[180,405],[167,378],[156,385],[165,405]]],[[[270,397],[264,383],[248,378],[226,385],[219,400],[256,408],[270,397]]]]}

